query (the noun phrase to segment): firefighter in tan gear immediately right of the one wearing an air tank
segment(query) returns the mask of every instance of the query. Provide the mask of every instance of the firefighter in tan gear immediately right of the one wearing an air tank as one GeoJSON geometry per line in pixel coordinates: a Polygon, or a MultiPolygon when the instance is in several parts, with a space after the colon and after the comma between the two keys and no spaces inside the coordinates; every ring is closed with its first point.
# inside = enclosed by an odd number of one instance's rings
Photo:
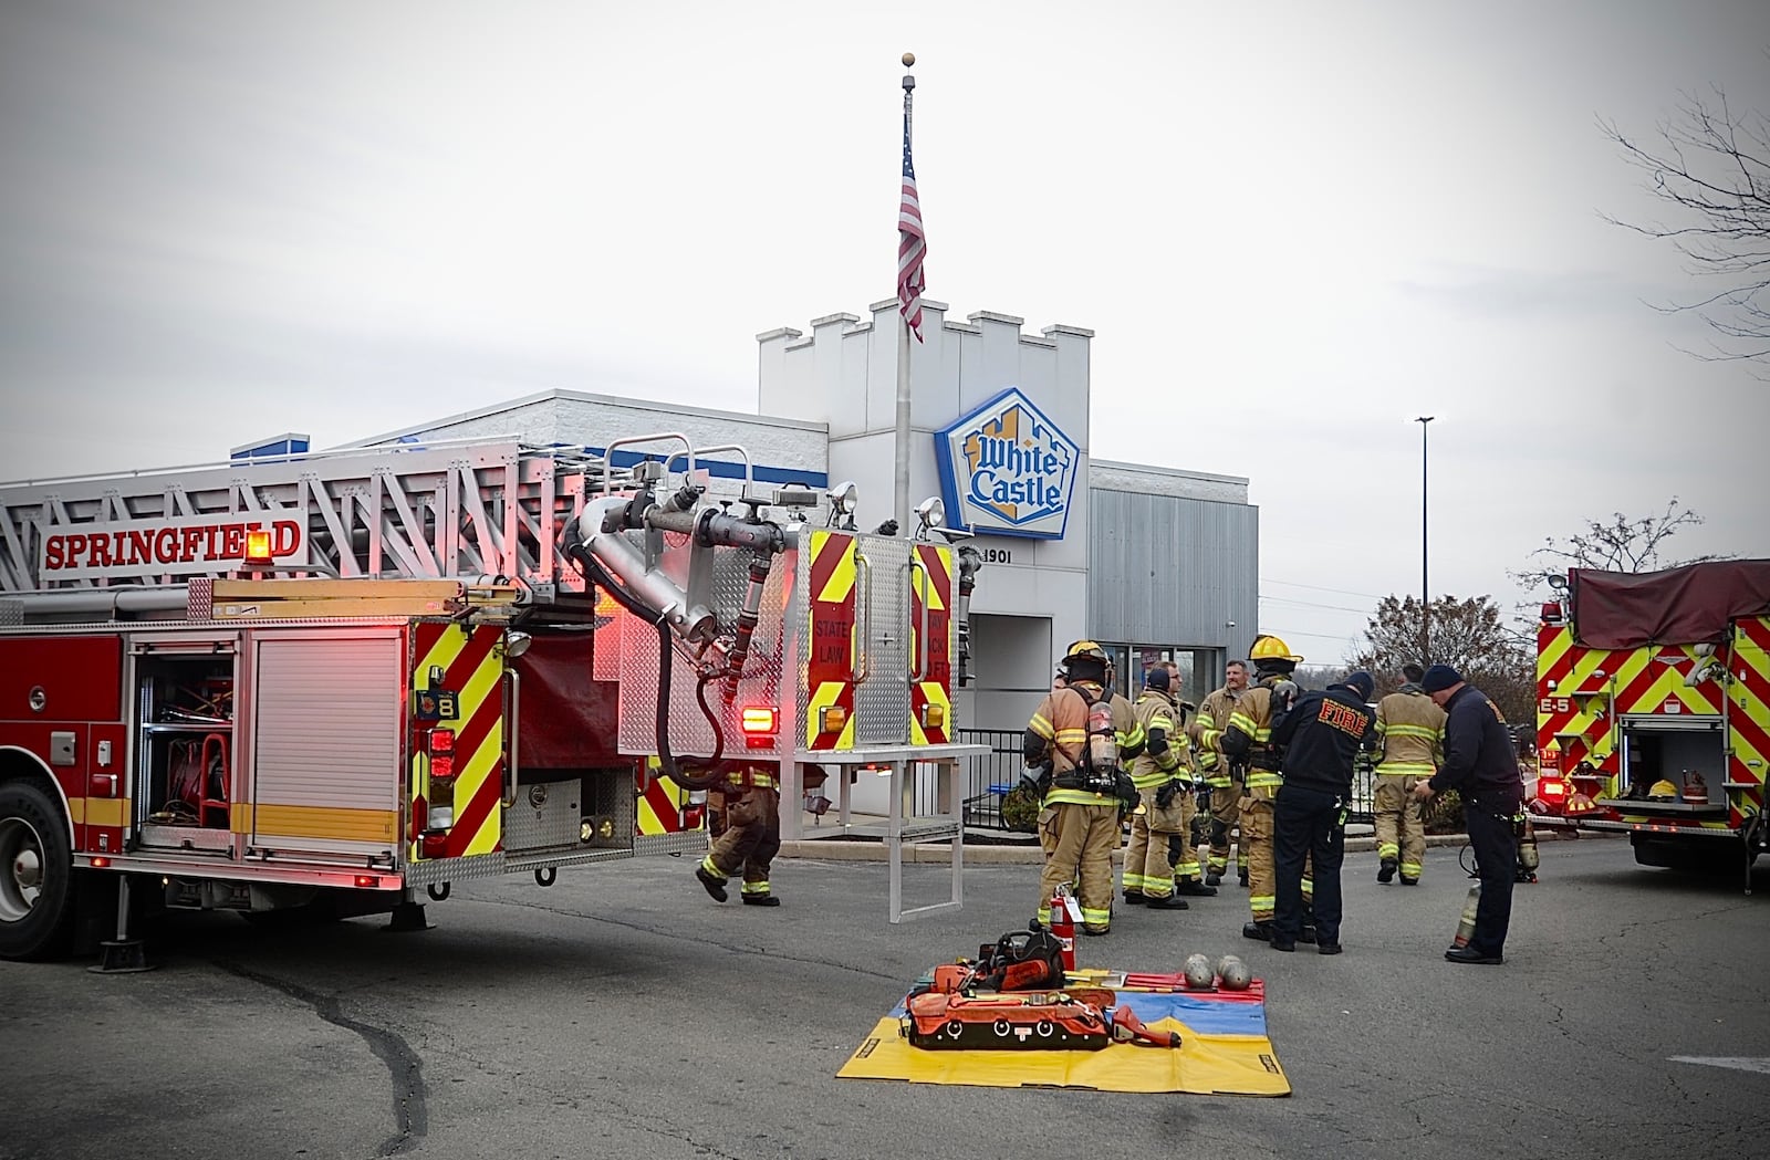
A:
{"type": "Polygon", "coordinates": [[[1124,851],[1124,900],[1158,911],[1184,911],[1181,895],[1205,891],[1189,842],[1193,771],[1184,711],[1174,693],[1174,668],[1156,665],[1143,677],[1143,695],[1135,706],[1143,752],[1131,762],[1131,783],[1142,810],[1131,815],[1131,842],[1124,851]]]}

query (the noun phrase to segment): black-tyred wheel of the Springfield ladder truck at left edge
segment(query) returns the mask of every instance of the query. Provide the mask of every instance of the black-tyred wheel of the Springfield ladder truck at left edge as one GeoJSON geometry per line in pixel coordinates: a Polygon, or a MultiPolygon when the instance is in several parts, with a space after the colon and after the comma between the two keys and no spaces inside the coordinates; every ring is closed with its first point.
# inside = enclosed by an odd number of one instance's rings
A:
{"type": "Polygon", "coordinates": [[[0,958],[55,958],[74,932],[73,852],[35,782],[0,785],[0,958]]]}

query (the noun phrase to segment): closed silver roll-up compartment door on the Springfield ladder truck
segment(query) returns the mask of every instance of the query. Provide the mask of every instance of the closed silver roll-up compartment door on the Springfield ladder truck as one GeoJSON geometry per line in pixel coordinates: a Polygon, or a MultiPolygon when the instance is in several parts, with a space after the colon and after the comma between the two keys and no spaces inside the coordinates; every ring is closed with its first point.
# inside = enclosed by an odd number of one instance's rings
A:
{"type": "Polygon", "coordinates": [[[396,637],[260,640],[257,805],[398,812],[396,637]]]}

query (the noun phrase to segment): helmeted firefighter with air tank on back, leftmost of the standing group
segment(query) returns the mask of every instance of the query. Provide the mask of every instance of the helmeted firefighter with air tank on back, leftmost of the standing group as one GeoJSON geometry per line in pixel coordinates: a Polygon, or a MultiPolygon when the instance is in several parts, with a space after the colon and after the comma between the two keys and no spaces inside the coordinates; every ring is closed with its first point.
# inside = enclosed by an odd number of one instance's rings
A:
{"type": "Polygon", "coordinates": [[[1112,852],[1119,845],[1119,812],[1135,805],[1126,764],[1143,752],[1143,729],[1131,702],[1108,690],[1110,661],[1092,640],[1078,640],[1064,656],[1066,688],[1053,690],[1027,723],[1027,775],[1039,810],[1039,928],[1051,923],[1051,895],[1074,884],[1081,932],[1112,928],[1112,852]]]}

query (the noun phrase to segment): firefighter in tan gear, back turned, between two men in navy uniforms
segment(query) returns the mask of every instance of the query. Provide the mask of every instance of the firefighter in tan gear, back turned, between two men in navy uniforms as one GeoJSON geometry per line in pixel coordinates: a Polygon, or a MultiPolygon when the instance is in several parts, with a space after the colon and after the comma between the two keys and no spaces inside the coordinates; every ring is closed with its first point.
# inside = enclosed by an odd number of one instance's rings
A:
{"type": "Polygon", "coordinates": [[[1427,859],[1427,822],[1414,801],[1414,783],[1437,773],[1444,760],[1444,711],[1432,704],[1420,677],[1420,665],[1402,667],[1400,690],[1377,702],[1377,737],[1382,757],[1377,762],[1375,824],[1379,882],[1402,872],[1402,886],[1420,882],[1427,859]]]}

